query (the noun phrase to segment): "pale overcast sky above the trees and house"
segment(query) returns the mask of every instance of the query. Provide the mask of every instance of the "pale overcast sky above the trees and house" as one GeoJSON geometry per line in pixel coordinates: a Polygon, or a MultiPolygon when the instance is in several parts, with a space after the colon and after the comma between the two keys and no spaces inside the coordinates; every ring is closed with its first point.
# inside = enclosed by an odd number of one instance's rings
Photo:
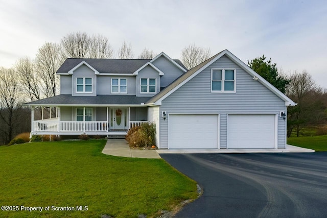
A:
{"type": "Polygon", "coordinates": [[[108,37],[115,51],[130,42],[134,58],[147,47],[179,59],[191,43],[245,63],[264,54],[327,88],[326,1],[0,0],[0,66],[77,31],[108,37]]]}

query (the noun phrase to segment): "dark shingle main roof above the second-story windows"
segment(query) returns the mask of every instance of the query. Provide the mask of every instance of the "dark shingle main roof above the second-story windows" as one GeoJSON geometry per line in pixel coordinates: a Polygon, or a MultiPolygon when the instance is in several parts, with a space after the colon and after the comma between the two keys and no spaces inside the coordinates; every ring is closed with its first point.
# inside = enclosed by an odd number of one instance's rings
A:
{"type": "MultiPolygon", "coordinates": [[[[138,68],[142,67],[150,59],[89,59],[89,58],[68,58],[66,59],[57,72],[68,72],[76,65],[85,61],[101,73],[111,74],[132,74],[138,68]]],[[[179,61],[174,60],[180,66],[186,67],[179,61]]]]}

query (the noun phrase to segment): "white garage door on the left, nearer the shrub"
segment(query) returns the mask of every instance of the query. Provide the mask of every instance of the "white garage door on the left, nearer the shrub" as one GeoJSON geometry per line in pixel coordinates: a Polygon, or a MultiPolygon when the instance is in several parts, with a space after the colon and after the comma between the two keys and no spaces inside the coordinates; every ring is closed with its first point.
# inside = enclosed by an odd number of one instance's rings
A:
{"type": "Polygon", "coordinates": [[[217,149],[218,115],[170,114],[169,149],[217,149]]]}

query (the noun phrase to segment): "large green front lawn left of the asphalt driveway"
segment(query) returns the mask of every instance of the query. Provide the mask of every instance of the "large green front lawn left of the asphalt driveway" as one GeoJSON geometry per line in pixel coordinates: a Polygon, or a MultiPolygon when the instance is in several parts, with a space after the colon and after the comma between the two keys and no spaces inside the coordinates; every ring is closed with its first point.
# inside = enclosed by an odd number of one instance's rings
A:
{"type": "Polygon", "coordinates": [[[49,211],[1,211],[1,217],[148,217],[195,199],[196,182],[162,159],[101,153],[106,140],[31,142],[0,147],[0,206],[49,211]],[[74,207],[74,211],[53,211],[74,207]],[[77,211],[76,206],[87,206],[77,211]]]}

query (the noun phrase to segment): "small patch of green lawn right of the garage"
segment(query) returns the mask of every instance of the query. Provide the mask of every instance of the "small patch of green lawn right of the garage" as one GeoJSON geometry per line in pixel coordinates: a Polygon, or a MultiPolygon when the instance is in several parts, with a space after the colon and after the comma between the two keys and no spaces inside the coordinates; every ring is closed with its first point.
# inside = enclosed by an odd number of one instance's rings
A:
{"type": "Polygon", "coordinates": [[[293,146],[313,149],[316,152],[327,151],[327,135],[290,137],[287,138],[287,143],[293,146]]]}

